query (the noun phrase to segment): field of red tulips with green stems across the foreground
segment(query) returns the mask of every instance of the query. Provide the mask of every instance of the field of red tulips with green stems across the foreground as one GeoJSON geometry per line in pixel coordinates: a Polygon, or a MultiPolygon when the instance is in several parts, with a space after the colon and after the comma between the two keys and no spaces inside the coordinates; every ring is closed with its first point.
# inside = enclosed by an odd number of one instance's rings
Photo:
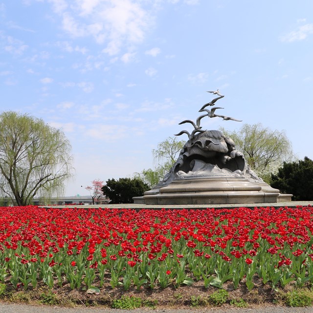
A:
{"type": "Polygon", "coordinates": [[[313,284],[313,206],[0,207],[0,221],[0,282],[15,289],[313,284]]]}

